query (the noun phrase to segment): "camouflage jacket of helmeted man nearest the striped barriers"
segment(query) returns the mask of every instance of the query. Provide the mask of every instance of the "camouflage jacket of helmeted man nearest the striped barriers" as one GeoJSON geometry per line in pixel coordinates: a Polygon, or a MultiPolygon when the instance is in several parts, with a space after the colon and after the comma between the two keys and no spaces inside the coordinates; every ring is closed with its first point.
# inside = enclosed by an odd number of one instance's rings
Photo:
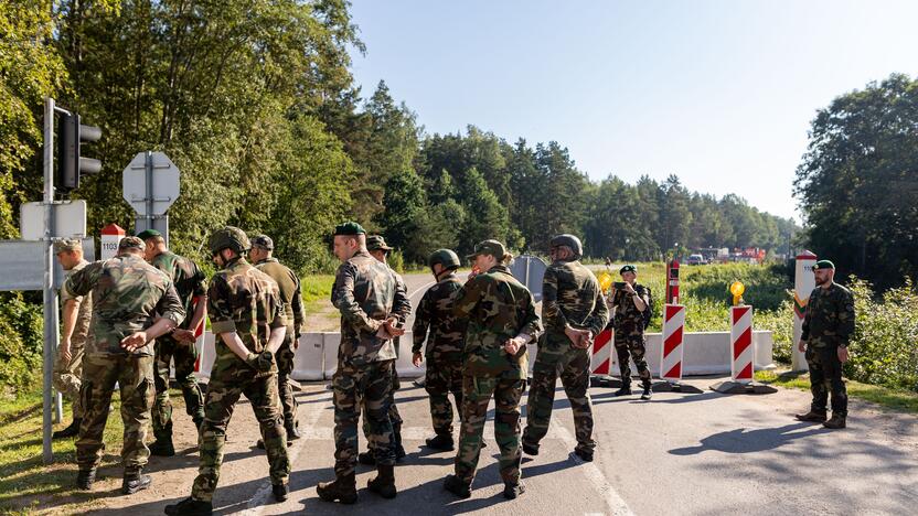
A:
{"type": "Polygon", "coordinates": [[[609,322],[609,308],[596,276],[579,261],[548,266],[542,282],[542,321],[548,344],[570,344],[564,334],[567,325],[599,335],[609,322]]]}

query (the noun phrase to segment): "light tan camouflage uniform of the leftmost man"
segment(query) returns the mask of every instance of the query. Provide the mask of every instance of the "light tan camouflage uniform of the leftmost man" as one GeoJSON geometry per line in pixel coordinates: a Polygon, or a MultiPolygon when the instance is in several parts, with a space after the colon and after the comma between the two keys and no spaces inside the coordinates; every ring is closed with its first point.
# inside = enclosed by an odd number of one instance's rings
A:
{"type": "MultiPolygon", "coordinates": [[[[68,276],[83,270],[88,261],[82,260],[70,270],[68,276]]],[[[89,321],[93,318],[93,295],[71,295],[66,289],[61,289],[61,304],[73,300],[77,304],[76,323],[71,334],[71,359],[64,362],[61,350],[54,358],[53,385],[58,393],[66,396],[73,402],[74,420],[83,419],[83,406],[81,404],[79,386],[83,378],[83,355],[86,345],[86,336],[89,333],[89,321]]]]}

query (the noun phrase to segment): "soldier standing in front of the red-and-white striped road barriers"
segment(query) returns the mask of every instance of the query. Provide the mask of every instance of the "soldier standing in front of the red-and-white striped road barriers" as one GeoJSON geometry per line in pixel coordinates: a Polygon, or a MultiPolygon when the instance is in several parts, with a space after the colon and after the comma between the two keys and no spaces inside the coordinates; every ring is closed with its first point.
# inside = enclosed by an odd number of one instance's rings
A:
{"type": "Polygon", "coordinates": [[[638,374],[641,377],[643,393],[641,399],[650,399],[652,396],[652,383],[650,368],[647,366],[644,354],[644,319],[643,311],[651,310],[648,307],[650,295],[647,287],[639,284],[638,268],[627,265],[619,270],[621,279],[625,280],[623,289],[612,288],[611,309],[615,321],[615,346],[618,354],[618,366],[621,370],[621,388],[615,396],[628,396],[631,394],[631,366],[628,359],[634,361],[638,374]]]}

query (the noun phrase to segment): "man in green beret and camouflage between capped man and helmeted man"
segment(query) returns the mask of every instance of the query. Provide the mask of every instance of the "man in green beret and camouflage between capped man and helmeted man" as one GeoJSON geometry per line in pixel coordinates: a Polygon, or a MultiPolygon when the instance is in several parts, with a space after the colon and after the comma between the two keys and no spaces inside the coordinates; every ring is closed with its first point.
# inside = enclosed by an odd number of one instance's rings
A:
{"type": "Polygon", "coordinates": [[[151,266],[166,272],[172,280],[175,291],[185,309],[185,320],[171,334],[157,338],[156,343],[156,386],[157,398],[153,404],[153,437],[150,453],[159,456],[172,456],[172,401],[169,399],[169,363],[175,362],[175,381],[182,389],[185,411],[199,429],[204,421],[204,395],[194,377],[194,363],[198,362],[198,347],[194,345],[194,329],[204,320],[206,308],[206,276],[198,264],[181,257],[166,247],[166,239],[156,229],[147,229],[137,235],[143,240],[143,259],[151,266]],[[198,305],[194,298],[199,298],[198,305]]]}

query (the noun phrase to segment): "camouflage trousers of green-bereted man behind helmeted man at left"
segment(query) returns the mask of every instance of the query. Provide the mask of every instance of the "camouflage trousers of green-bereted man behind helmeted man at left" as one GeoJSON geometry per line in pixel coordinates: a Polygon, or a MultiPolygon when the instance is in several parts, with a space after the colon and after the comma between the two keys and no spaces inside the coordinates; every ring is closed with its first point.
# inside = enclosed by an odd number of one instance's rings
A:
{"type": "Polygon", "coordinates": [[[169,336],[157,338],[156,387],[153,404],[153,437],[157,441],[172,441],[172,401],[169,399],[169,363],[175,363],[175,381],[182,389],[185,412],[198,424],[204,419],[204,395],[194,377],[198,348],[194,343],[178,342],[169,336]]]}

